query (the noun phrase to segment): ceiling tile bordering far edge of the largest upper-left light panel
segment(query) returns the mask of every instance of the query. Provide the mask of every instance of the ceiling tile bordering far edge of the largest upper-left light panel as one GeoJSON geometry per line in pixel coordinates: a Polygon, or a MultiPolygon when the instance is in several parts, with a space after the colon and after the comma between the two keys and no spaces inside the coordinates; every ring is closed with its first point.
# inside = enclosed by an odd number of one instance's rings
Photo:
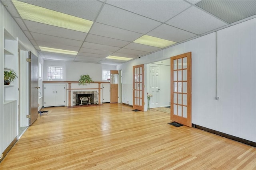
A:
{"type": "Polygon", "coordinates": [[[61,27],[55,27],[55,26],[47,25],[43,23],[37,23],[33,21],[28,21],[28,20],[24,20],[24,22],[29,28],[29,31],[34,33],[41,33],[44,35],[52,35],[56,37],[74,39],[79,41],[84,41],[87,35],[87,33],[84,33],[84,32],[74,31],[71,29],[65,29],[61,27]]]}

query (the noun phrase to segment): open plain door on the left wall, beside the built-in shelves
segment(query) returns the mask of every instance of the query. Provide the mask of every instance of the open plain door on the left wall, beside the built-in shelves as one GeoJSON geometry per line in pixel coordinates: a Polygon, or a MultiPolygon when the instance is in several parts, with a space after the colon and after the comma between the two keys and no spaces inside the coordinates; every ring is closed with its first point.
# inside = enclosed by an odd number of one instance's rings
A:
{"type": "Polygon", "coordinates": [[[38,118],[38,58],[30,51],[29,59],[29,125],[32,125],[38,118]]]}

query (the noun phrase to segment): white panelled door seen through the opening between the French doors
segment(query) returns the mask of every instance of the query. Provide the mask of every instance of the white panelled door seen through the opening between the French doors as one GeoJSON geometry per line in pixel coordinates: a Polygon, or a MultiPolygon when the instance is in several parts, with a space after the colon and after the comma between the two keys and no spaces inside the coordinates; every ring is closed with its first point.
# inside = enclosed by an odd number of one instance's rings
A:
{"type": "Polygon", "coordinates": [[[160,67],[158,66],[150,66],[149,70],[149,92],[153,95],[150,99],[150,108],[160,107],[159,95],[161,92],[160,84],[159,84],[159,76],[160,76],[160,67]]]}

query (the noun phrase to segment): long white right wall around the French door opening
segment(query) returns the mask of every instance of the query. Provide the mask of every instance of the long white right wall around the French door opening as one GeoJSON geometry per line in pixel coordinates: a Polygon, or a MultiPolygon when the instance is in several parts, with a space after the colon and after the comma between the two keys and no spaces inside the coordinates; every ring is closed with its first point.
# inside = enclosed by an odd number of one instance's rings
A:
{"type": "MultiPolygon", "coordinates": [[[[256,18],[118,65],[132,104],[132,66],[192,52],[192,123],[256,142],[256,18]]],[[[145,89],[146,91],[146,89],[145,89]]]]}

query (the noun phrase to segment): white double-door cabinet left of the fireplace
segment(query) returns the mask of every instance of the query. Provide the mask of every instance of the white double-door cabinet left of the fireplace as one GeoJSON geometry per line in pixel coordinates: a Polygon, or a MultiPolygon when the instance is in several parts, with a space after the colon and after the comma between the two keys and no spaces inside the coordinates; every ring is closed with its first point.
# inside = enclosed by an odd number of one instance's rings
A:
{"type": "Polygon", "coordinates": [[[66,105],[66,84],[44,84],[44,107],[66,105]]]}

